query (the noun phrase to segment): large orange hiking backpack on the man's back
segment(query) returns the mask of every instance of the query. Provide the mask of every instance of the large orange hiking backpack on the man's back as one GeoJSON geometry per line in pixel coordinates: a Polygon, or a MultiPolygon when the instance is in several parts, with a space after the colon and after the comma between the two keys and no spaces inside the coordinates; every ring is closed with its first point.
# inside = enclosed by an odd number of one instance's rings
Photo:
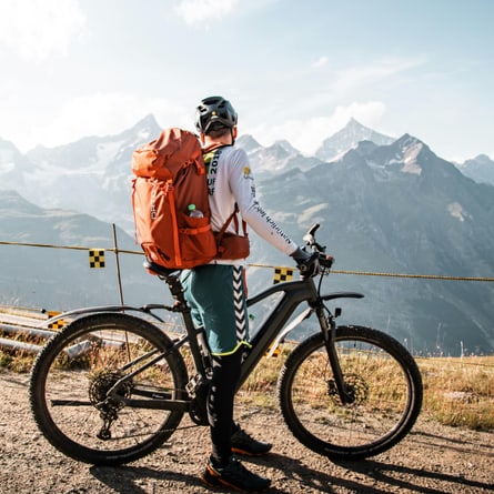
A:
{"type": "Polygon", "coordinates": [[[198,138],[181,129],[163,130],[133,152],[132,171],[137,241],[147,258],[168,269],[190,269],[213,260],[218,250],[198,138]],[[190,215],[190,204],[202,218],[190,215]]]}

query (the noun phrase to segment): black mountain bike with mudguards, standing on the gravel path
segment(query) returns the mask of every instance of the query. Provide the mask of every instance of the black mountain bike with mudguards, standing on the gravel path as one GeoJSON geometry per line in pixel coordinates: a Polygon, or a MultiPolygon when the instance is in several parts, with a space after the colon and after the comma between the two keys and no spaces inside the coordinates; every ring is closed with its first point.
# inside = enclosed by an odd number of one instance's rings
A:
{"type": "MultiPolygon", "coordinates": [[[[336,324],[330,301],[355,292],[322,294],[333,260],[304,236],[320,259],[316,278],[273,284],[248,308],[275,295],[242,362],[239,389],[266,352],[285,345],[290,331],[315,315],[319,330],[288,355],[278,377],[278,402],[293,435],[333,461],[360,460],[397,444],[422,404],[422,380],[412,355],[392,336],[336,324]],[[295,314],[301,304],[305,309],[295,314]]],[[[180,272],[144,263],[167,282],[173,305],[105,306],[71,311],[72,317],[37,357],[30,404],[44,437],[74,460],[118,465],[160,447],[184,414],[206,425],[211,356],[203,329],[193,325],[180,272]],[[167,334],[157,310],[177,313],[183,331],[167,334]],[[135,312],[131,314],[130,312],[135,312]]]]}

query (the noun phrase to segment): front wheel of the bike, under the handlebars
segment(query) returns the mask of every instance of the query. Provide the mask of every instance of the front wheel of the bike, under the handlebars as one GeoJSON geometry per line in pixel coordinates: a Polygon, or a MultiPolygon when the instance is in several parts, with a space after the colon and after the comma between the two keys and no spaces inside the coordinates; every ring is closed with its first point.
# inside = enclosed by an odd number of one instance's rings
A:
{"type": "Polygon", "coordinates": [[[342,404],[317,333],[295,347],[281,371],[284,421],[302,444],[330,460],[374,456],[413,427],[422,406],[421,373],[403,345],[370,327],[337,327],[335,347],[354,403],[342,404]]]}

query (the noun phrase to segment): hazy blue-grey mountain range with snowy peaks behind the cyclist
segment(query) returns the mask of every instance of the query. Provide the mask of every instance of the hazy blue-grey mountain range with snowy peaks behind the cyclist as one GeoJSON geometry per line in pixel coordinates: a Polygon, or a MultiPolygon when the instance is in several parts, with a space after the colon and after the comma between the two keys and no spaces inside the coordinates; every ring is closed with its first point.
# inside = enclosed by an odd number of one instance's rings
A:
{"type": "MultiPolygon", "coordinates": [[[[0,139],[0,241],[111,249],[115,223],[120,249],[138,250],[131,154],[159,132],[148,115],[117,135],[26,154],[0,139]]],[[[329,290],[365,293],[362,301],[341,303],[343,322],[386,330],[414,352],[494,351],[492,283],[413,278],[493,276],[494,162],[487,157],[448,162],[413,135],[394,139],[355,120],[312,157],[288,141],[263,147],[251,135],[238,145],[250,157],[261,203],[293,239],[321,224],[320,240],[336,259],[329,290]]],[[[290,265],[251,236],[253,263],[290,265]]],[[[0,303],[67,310],[118,302],[110,253],[107,270],[89,270],[87,252],[0,248],[0,303]]],[[[142,270],[141,256],[120,258],[125,302],[165,296],[164,286],[142,270]]],[[[270,270],[250,269],[251,291],[271,276],[270,270]]]]}

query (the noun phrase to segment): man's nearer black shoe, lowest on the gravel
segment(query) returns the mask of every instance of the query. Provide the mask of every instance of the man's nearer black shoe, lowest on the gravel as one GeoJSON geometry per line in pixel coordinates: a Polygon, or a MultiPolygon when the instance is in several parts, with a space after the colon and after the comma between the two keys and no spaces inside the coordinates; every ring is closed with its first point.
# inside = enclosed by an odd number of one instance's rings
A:
{"type": "Polygon", "coordinates": [[[249,472],[234,456],[223,467],[214,466],[210,458],[202,481],[211,487],[230,487],[241,492],[264,491],[271,485],[269,478],[249,472]]]}

